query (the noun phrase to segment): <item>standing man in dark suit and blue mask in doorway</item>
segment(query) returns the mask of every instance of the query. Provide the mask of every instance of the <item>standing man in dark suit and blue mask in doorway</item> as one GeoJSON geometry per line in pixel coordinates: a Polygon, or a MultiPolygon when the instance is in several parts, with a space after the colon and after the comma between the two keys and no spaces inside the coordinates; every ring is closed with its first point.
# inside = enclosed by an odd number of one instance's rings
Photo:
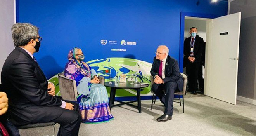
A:
{"type": "Polygon", "coordinates": [[[197,94],[198,71],[201,63],[204,39],[197,35],[197,28],[190,28],[191,37],[184,40],[184,59],[188,75],[188,88],[197,94]]]}

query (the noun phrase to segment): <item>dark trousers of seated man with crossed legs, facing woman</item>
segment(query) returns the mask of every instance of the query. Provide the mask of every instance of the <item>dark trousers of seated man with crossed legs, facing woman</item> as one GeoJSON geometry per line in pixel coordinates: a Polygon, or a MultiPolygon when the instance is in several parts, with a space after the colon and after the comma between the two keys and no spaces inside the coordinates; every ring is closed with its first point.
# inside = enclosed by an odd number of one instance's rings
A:
{"type": "Polygon", "coordinates": [[[176,82],[166,82],[164,84],[154,83],[152,85],[152,91],[165,106],[164,114],[168,114],[170,116],[173,115],[173,98],[174,91],[176,90],[177,86],[178,85],[176,82]]]}

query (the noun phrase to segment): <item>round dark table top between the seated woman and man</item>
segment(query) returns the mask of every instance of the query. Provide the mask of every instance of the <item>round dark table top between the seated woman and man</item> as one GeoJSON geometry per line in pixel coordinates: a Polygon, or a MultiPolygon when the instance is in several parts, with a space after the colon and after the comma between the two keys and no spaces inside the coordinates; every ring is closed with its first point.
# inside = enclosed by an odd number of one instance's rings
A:
{"type": "Polygon", "coordinates": [[[124,89],[137,89],[137,88],[144,88],[148,87],[149,84],[146,85],[140,85],[140,83],[135,84],[130,84],[131,81],[126,81],[125,83],[115,83],[115,81],[111,81],[112,84],[109,84],[109,82],[105,82],[104,86],[106,87],[114,87],[114,88],[124,88],[124,89]]]}

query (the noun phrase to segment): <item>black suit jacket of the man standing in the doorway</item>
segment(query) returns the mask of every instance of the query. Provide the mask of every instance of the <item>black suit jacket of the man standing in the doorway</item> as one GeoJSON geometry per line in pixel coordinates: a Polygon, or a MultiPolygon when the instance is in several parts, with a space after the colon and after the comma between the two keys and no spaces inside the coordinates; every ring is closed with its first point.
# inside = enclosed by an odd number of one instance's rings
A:
{"type": "MultiPolygon", "coordinates": [[[[191,42],[191,37],[188,37],[184,40],[184,59],[183,59],[184,67],[186,63],[189,62],[188,57],[190,56],[190,46],[191,46],[190,42],[191,42]]],[[[197,35],[196,41],[194,43],[194,57],[196,58],[195,62],[201,62],[203,44],[204,44],[204,39],[197,35]]]]}

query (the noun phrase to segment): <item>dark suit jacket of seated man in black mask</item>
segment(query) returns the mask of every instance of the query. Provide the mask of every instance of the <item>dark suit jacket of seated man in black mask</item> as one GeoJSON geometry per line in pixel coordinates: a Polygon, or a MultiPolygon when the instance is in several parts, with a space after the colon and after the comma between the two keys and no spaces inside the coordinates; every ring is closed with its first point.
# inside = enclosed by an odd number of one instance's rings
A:
{"type": "MultiPolygon", "coordinates": [[[[20,47],[7,57],[1,72],[2,89],[9,98],[9,114],[16,125],[42,120],[55,110],[47,107],[62,105],[60,99],[47,93],[48,81],[38,64],[20,47]]],[[[59,117],[62,113],[54,114],[59,117]]]]}

